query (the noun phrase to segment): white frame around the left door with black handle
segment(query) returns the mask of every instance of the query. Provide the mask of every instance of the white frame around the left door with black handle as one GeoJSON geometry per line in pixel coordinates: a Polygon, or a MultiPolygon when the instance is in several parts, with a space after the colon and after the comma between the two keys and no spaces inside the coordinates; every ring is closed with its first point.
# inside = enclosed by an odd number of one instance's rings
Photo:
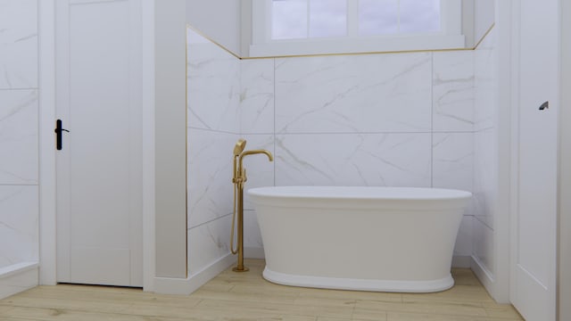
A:
{"type": "MultiPolygon", "coordinates": [[[[39,284],[56,284],[55,0],[38,0],[39,284]]],[[[154,2],[141,1],[143,26],[143,286],[154,279],[154,2]]]]}

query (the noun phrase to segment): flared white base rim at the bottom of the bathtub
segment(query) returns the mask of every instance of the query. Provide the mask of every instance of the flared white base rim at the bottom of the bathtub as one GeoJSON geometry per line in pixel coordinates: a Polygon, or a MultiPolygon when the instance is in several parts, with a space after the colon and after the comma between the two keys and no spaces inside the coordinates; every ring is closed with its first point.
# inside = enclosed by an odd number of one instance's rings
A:
{"type": "Polygon", "coordinates": [[[451,274],[437,280],[400,281],[339,278],[325,276],[298,276],[275,272],[267,266],[262,273],[264,279],[274,284],[302,286],[319,289],[368,291],[368,292],[402,292],[426,293],[443,292],[454,286],[451,274]]]}

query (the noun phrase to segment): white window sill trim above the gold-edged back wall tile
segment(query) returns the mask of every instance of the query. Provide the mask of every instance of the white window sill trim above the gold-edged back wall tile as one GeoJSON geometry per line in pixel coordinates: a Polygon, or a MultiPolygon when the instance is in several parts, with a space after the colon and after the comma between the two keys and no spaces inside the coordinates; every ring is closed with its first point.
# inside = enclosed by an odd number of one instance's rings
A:
{"type": "Polygon", "coordinates": [[[249,58],[344,53],[394,53],[467,49],[464,36],[374,37],[362,39],[283,40],[250,45],[249,58]]]}

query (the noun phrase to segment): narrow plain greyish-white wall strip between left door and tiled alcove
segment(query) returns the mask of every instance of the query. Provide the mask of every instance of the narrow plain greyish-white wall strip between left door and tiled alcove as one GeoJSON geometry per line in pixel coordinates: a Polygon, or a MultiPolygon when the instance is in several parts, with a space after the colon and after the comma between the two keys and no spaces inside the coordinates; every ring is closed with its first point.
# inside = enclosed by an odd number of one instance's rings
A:
{"type": "Polygon", "coordinates": [[[186,278],[186,21],[184,0],[155,1],[156,276],[186,278]]]}

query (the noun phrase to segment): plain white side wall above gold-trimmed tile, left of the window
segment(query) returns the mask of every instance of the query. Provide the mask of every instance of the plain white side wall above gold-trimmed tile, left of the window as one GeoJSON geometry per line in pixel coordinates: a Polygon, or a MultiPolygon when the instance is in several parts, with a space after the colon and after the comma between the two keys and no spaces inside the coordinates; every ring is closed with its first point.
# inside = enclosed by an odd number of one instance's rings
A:
{"type": "Polygon", "coordinates": [[[241,55],[242,1],[186,0],[186,21],[223,45],[241,55]]]}

